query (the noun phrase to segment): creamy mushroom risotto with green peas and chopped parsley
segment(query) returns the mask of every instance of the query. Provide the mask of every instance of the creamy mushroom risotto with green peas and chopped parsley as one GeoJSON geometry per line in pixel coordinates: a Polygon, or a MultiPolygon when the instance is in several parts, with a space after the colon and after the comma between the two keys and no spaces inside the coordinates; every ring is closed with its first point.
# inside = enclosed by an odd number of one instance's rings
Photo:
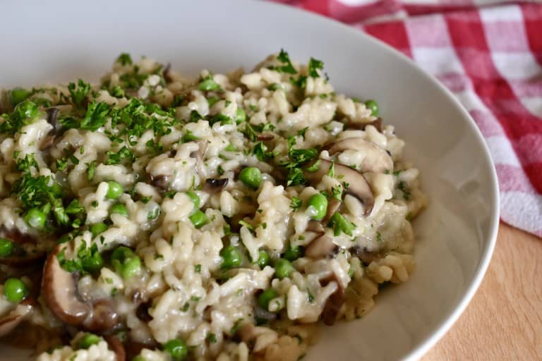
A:
{"type": "Polygon", "coordinates": [[[37,360],[298,360],[414,270],[418,170],[316,59],[121,54],[0,109],[0,335],[37,360]]]}

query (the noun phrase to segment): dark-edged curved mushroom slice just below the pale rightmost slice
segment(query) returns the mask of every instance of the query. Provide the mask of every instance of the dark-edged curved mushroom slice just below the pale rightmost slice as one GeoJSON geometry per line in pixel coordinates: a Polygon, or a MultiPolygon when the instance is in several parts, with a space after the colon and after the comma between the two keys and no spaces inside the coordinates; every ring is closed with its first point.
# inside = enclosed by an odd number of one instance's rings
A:
{"type": "MultiPolygon", "coordinates": [[[[320,166],[315,172],[305,171],[305,177],[311,182],[318,182],[327,174],[332,165],[331,161],[326,159],[318,159],[320,166]]],[[[347,192],[356,197],[363,203],[363,214],[369,214],[375,205],[375,197],[371,185],[367,182],[363,174],[356,169],[351,169],[343,164],[335,164],[335,177],[339,178],[344,183],[348,183],[347,192]]]]}

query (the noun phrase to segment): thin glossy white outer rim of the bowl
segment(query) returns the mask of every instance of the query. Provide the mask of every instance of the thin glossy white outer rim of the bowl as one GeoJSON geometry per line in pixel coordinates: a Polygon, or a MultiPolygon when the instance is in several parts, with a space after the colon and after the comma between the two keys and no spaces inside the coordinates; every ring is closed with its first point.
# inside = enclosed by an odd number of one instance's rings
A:
{"type": "Polygon", "coordinates": [[[469,286],[466,287],[463,295],[459,298],[459,302],[457,302],[457,305],[452,310],[447,312],[447,314],[445,314],[442,322],[437,324],[428,336],[423,338],[418,345],[409,350],[409,352],[402,357],[402,360],[418,360],[423,355],[425,355],[428,350],[430,350],[430,348],[433,348],[433,346],[438,343],[438,341],[440,341],[443,336],[445,336],[447,331],[450,331],[454,323],[457,321],[457,319],[459,319],[459,316],[461,316],[466,307],[469,305],[469,302],[471,302],[474,294],[476,293],[476,290],[478,290],[478,287],[480,286],[481,281],[486,274],[491,257],[493,256],[493,250],[495,250],[495,243],[497,242],[497,233],[500,221],[500,196],[497,172],[495,171],[495,164],[493,164],[493,159],[491,158],[488,145],[483,139],[483,135],[478,126],[476,126],[474,119],[471,117],[469,112],[466,111],[464,106],[462,106],[462,104],[454,96],[454,94],[452,94],[452,92],[450,92],[450,90],[448,90],[444,85],[442,85],[440,81],[433,77],[433,75],[426,73],[426,71],[424,71],[421,66],[418,66],[418,64],[415,63],[413,59],[410,59],[401,51],[394,49],[385,42],[382,42],[380,39],[366,34],[366,32],[363,32],[363,30],[359,28],[347,25],[345,23],[341,23],[332,18],[327,18],[326,16],[320,15],[318,13],[313,13],[311,11],[306,11],[300,8],[294,8],[285,4],[277,4],[274,2],[262,1],[260,2],[260,5],[262,4],[265,4],[265,6],[289,8],[289,11],[295,11],[299,14],[299,16],[312,18],[313,21],[325,23],[327,27],[335,27],[340,32],[347,32],[351,36],[359,37],[359,39],[370,42],[371,44],[373,44],[373,46],[378,47],[381,51],[385,52],[387,56],[393,56],[401,61],[408,63],[411,68],[414,68],[414,71],[416,71],[416,75],[432,83],[438,88],[438,90],[440,90],[440,92],[442,92],[445,97],[451,100],[452,106],[454,106],[454,108],[459,112],[459,114],[462,115],[462,120],[466,123],[466,126],[469,128],[469,130],[474,133],[476,142],[478,142],[478,145],[481,146],[483,160],[486,161],[489,165],[488,176],[490,178],[490,184],[488,184],[488,186],[490,188],[490,204],[493,204],[492,209],[490,209],[490,216],[488,220],[488,236],[486,238],[486,246],[481,251],[481,258],[478,261],[478,266],[474,271],[474,275],[471,279],[466,281],[469,286]]]}

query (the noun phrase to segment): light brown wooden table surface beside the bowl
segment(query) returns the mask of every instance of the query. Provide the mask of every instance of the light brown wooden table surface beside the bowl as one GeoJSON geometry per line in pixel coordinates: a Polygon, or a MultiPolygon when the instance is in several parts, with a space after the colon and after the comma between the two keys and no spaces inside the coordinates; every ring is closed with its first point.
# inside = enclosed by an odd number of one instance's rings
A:
{"type": "Polygon", "coordinates": [[[541,239],[500,224],[476,295],[422,360],[542,360],[541,239]]]}

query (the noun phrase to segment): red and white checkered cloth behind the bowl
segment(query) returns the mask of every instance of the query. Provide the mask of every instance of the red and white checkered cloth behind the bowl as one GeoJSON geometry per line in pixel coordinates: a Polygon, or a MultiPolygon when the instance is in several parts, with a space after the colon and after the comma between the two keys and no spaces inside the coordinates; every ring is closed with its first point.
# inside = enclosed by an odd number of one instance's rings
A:
{"type": "Polygon", "coordinates": [[[446,85],[486,139],[499,178],[502,220],[542,237],[542,4],[279,2],[359,27],[446,85]]]}

